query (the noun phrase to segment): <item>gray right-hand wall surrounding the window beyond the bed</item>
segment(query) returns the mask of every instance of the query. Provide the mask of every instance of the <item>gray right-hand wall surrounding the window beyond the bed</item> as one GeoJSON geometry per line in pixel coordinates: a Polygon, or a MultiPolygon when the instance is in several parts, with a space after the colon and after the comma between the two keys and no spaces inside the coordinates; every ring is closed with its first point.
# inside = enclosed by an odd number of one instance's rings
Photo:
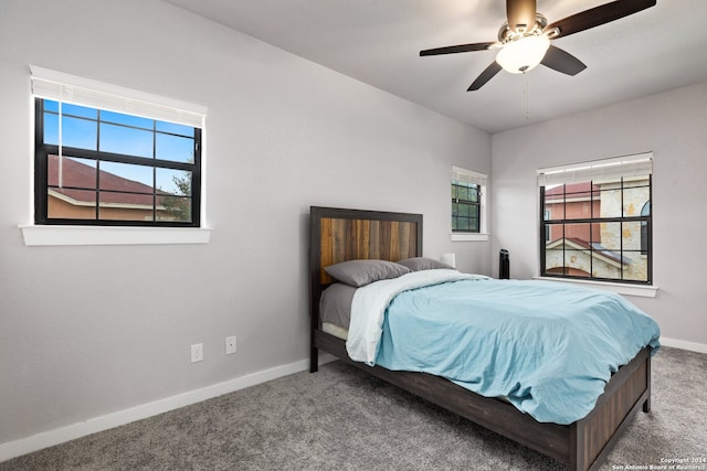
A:
{"type": "MultiPolygon", "coordinates": [[[[707,83],[493,137],[494,250],[511,276],[539,272],[536,169],[653,152],[654,299],[631,298],[663,336],[707,345],[707,83]]],[[[678,344],[679,344],[678,342],[678,344]]],[[[692,345],[687,345],[692,346],[692,345]]]]}

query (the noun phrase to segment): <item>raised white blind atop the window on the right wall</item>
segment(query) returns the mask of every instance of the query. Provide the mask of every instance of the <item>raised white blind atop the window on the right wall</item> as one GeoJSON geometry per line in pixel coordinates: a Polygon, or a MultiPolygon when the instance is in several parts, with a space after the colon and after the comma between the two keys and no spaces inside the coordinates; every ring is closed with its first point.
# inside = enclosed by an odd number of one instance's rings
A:
{"type": "Polygon", "coordinates": [[[570,165],[538,169],[538,186],[619,180],[653,173],[653,153],[639,153],[570,165]]]}

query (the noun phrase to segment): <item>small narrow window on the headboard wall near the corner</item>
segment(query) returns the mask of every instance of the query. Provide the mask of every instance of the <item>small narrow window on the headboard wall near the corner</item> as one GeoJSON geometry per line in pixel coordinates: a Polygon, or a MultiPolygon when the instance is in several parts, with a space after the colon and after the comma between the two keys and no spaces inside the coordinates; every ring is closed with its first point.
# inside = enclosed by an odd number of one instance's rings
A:
{"type": "Polygon", "coordinates": [[[484,232],[486,175],[452,168],[452,233],[484,232]]]}

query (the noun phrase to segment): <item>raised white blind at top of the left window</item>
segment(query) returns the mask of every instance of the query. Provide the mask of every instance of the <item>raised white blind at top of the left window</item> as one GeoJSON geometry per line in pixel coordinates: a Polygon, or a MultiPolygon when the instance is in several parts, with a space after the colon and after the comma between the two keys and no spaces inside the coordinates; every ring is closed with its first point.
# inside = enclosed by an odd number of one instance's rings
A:
{"type": "Polygon", "coordinates": [[[39,98],[203,128],[207,107],[117,85],[30,66],[39,98]]]}

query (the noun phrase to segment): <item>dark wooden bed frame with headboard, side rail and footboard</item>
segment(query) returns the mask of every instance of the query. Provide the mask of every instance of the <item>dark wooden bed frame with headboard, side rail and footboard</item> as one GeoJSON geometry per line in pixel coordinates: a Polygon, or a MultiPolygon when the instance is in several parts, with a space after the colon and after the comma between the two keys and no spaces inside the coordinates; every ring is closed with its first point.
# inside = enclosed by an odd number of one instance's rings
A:
{"type": "Polygon", "coordinates": [[[643,349],[606,384],[594,409],[571,425],[538,422],[513,405],[479,396],[439,376],[393,372],[354,362],[346,342],[321,330],[319,298],[333,282],[324,267],[351,259],[397,261],[422,256],[422,215],[312,206],[310,208],[310,372],[323,350],[475,424],[564,462],[595,470],[630,419],[651,410],[651,355],[643,349]]]}

